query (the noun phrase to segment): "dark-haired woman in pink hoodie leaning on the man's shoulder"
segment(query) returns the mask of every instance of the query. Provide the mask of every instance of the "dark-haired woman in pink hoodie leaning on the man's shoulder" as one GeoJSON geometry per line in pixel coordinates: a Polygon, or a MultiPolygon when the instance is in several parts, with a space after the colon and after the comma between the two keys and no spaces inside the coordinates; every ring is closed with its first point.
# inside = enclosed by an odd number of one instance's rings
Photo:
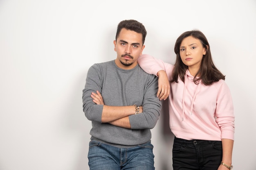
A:
{"type": "Polygon", "coordinates": [[[147,54],[138,59],[143,70],[159,77],[159,99],[169,97],[173,169],[232,169],[233,103],[207,38],[200,31],[187,31],[177,38],[174,51],[174,65],[147,54]]]}

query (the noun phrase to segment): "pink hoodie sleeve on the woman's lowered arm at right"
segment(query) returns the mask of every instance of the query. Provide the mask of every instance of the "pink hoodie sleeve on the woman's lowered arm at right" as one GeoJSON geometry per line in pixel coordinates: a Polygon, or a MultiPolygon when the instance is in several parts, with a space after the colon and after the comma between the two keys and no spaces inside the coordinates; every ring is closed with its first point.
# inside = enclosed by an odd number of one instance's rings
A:
{"type": "Polygon", "coordinates": [[[229,87],[223,81],[217,96],[216,122],[221,130],[221,139],[234,140],[235,116],[229,87]]]}

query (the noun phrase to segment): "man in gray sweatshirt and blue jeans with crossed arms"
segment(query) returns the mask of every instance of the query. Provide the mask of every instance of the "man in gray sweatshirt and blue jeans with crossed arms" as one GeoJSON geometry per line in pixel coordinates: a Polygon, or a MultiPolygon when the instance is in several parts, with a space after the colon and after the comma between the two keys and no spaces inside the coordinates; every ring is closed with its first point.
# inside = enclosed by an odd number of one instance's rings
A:
{"type": "Polygon", "coordinates": [[[162,105],[158,78],[137,63],[146,33],[136,20],[121,21],[114,40],[117,58],[88,70],[83,111],[92,121],[90,170],[155,169],[150,129],[162,105]]]}

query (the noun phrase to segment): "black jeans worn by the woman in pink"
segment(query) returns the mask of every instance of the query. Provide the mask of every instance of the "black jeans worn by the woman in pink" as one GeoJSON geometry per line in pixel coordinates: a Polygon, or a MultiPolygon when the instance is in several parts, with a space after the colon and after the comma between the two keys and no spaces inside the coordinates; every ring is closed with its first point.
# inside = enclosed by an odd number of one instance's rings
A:
{"type": "Polygon", "coordinates": [[[221,160],[221,141],[174,138],[173,170],[217,170],[221,160]]]}

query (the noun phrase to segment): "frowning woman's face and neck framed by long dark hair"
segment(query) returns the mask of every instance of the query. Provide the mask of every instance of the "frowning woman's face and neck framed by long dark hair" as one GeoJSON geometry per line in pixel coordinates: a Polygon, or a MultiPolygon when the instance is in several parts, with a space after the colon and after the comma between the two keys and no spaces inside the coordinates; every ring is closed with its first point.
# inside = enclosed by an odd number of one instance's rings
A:
{"type": "Polygon", "coordinates": [[[180,44],[180,57],[182,62],[188,66],[189,71],[197,72],[200,68],[205,48],[199,39],[192,36],[186,37],[180,44]]]}

